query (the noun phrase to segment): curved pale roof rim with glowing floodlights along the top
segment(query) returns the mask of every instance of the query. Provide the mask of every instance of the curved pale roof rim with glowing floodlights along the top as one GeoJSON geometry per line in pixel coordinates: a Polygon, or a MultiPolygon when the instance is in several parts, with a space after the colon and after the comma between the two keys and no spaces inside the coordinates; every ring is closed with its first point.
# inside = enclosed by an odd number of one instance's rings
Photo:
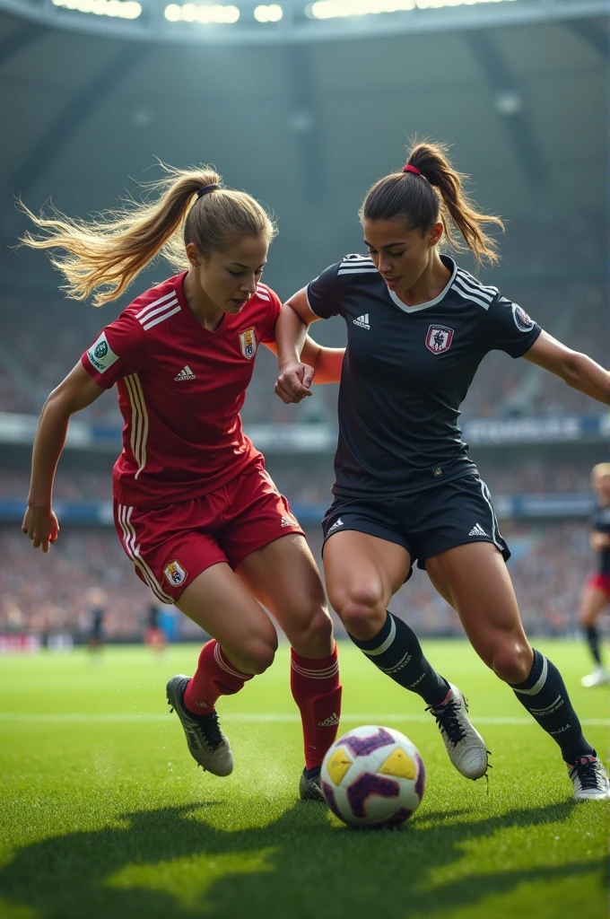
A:
{"type": "MultiPolygon", "coordinates": [[[[185,44],[291,44],[607,18],[609,0],[0,0],[12,17],[91,35],[185,44]],[[90,14],[83,16],[82,14],[90,14]],[[385,16],[376,14],[385,13],[385,16]],[[281,20],[281,26],[277,24],[281,20]],[[275,24],[275,25],[274,25],[275,24]],[[219,28],[231,25],[232,28],[219,28]],[[199,28],[201,27],[201,28],[199,28]]],[[[593,27],[597,31],[597,26],[593,27]]],[[[603,30],[599,32],[603,34],[603,30]]],[[[508,87],[510,88],[510,87],[508,87]]],[[[503,116],[519,102],[496,99],[503,116]]],[[[295,129],[295,130],[301,130],[295,129]]],[[[308,129],[309,130],[309,129],[308,129]]]]}

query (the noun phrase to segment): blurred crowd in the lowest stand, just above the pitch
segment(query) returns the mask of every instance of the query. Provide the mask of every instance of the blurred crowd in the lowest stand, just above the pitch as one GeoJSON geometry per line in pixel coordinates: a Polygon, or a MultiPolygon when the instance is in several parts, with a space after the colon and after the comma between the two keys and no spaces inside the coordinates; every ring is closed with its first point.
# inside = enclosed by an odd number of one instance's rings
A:
{"type": "MultiPolygon", "coordinates": [[[[92,588],[105,596],[107,640],[137,639],[146,628],[154,598],[141,584],[109,529],[63,528],[48,554],[32,550],[17,528],[0,528],[1,630],[36,630],[43,638],[63,631],[85,640],[91,630],[92,588]]],[[[576,628],[582,583],[593,565],[588,531],[580,523],[503,527],[513,550],[509,567],[525,626],[532,633],[565,635],[576,628]]],[[[308,534],[320,562],[318,528],[308,534]]],[[[412,580],[393,598],[391,609],[418,632],[460,633],[455,612],[435,594],[426,574],[412,580]]],[[[201,631],[178,615],[180,638],[197,639],[201,631]]],[[[343,634],[337,622],[338,634],[343,634]]]]}

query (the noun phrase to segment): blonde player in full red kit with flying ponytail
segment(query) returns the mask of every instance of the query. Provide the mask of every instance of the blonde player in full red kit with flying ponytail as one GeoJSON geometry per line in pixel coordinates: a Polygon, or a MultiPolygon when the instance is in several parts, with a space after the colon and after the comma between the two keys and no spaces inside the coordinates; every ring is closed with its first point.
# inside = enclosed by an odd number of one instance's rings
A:
{"type": "MultiPolygon", "coordinates": [[[[261,283],[274,227],[249,195],[208,167],[170,170],[159,197],[93,222],[36,218],[23,242],[52,261],[77,300],[117,298],[155,255],[175,267],[109,323],[42,409],[22,529],[46,552],[59,524],[52,484],[68,421],[117,385],[123,449],[114,467],[115,525],[135,573],[213,636],[192,678],[167,698],[200,766],[232,772],[215,705],[272,663],[277,632],[291,644],[299,707],[302,798],[323,800],[322,758],[341,705],[332,621],[320,574],[286,498],[242,430],[240,409],[263,343],[275,351],[281,303],[261,283]]],[[[307,344],[316,381],[338,381],[343,349],[307,344]]]]}

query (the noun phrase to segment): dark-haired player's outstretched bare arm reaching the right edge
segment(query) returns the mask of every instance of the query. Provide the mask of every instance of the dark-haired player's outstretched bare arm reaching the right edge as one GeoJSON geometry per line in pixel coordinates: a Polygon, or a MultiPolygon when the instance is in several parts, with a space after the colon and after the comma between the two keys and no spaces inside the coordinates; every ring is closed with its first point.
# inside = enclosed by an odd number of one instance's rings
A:
{"type": "Polygon", "coordinates": [[[584,392],[597,402],[610,404],[610,373],[591,357],[572,351],[547,332],[540,334],[523,357],[554,373],[573,390],[584,392]]]}

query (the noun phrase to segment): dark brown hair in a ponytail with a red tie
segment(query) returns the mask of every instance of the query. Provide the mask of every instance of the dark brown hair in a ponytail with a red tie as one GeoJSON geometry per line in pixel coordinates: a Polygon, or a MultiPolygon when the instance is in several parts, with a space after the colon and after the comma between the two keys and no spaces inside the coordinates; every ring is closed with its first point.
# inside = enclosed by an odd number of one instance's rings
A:
{"type": "Polygon", "coordinates": [[[409,153],[407,165],[419,172],[392,173],[370,187],[359,210],[361,221],[404,220],[409,229],[425,233],[440,218],[449,244],[463,248],[452,232],[457,228],[479,265],[487,259],[492,265],[499,260],[498,246],[485,233],[483,225],[494,223],[504,229],[503,221],[481,214],[463,190],[463,180],[447,157],[443,143],[418,142],[409,153]]]}

